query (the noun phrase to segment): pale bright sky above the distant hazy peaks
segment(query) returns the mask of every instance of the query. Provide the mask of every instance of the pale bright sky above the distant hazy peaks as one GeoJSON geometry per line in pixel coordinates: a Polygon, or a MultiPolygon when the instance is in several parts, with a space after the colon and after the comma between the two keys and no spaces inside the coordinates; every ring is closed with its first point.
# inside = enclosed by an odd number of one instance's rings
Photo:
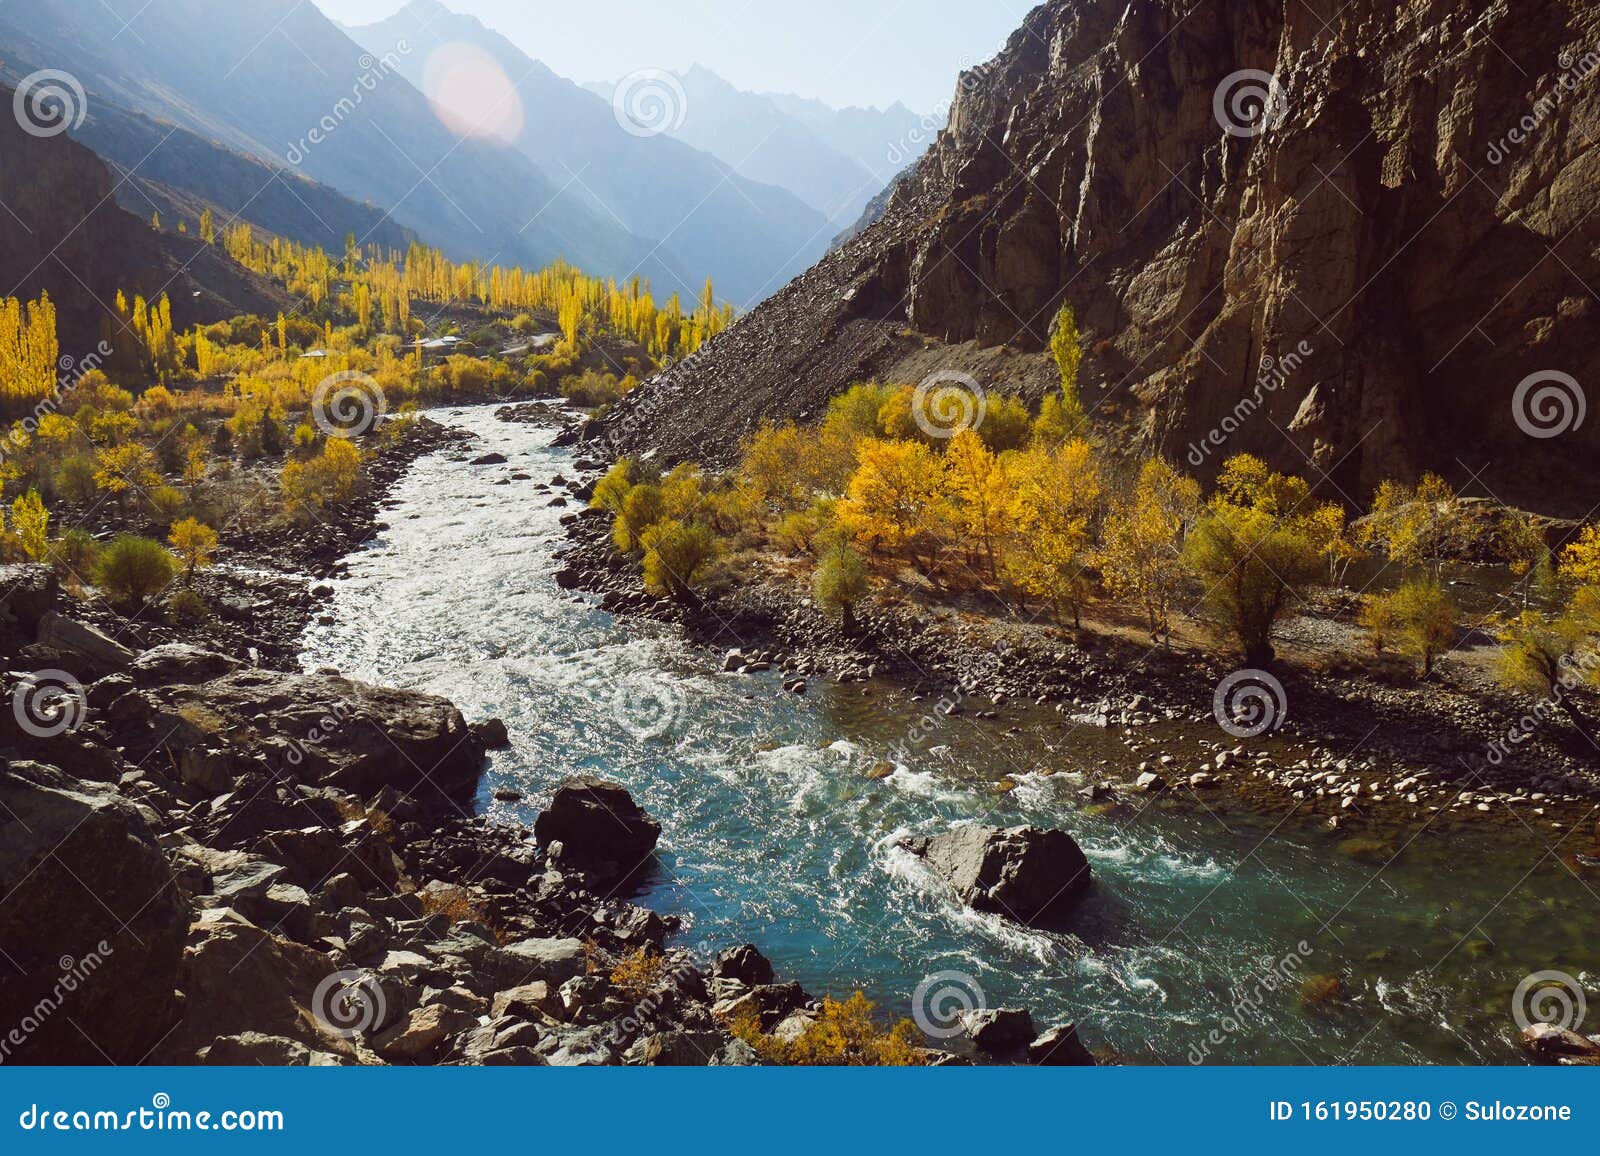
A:
{"type": "MultiPolygon", "coordinates": [[[[402,0],[317,0],[368,24],[402,0]]],[[[998,51],[1032,0],[445,0],[573,80],[702,64],[738,88],[835,107],[941,110],[962,69],[998,51]]]]}

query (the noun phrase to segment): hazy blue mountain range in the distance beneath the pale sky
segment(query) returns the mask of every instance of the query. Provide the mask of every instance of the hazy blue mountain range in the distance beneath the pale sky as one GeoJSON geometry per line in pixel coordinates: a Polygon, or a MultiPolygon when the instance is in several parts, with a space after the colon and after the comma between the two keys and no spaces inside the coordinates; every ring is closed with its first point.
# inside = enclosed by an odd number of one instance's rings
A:
{"type": "Polygon", "coordinates": [[[662,291],[712,277],[741,306],[859,216],[894,175],[874,162],[893,149],[882,141],[915,122],[741,93],[696,69],[682,125],[642,131],[614,93],[434,0],[362,29],[304,0],[30,0],[0,8],[0,59],[11,85],[40,69],[82,85],[74,136],[144,216],[213,207],[330,247],[354,234],[458,259],[560,256],[662,291]],[[488,131],[474,131],[475,99],[488,131]]]}

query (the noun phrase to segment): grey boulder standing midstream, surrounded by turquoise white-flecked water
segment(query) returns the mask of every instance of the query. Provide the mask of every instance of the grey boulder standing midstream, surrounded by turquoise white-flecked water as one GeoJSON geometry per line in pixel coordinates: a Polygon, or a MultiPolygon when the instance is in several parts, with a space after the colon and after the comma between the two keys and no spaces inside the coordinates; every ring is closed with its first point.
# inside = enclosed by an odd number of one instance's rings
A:
{"type": "Polygon", "coordinates": [[[962,826],[906,847],[974,911],[1024,924],[1056,924],[1090,885],[1090,861],[1066,831],[962,826]]]}

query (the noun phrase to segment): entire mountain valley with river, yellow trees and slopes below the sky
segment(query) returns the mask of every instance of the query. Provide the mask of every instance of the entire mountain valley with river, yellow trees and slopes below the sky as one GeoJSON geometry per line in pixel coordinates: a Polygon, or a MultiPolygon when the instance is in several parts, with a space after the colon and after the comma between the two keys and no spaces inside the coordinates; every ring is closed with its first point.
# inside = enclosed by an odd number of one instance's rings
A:
{"type": "Polygon", "coordinates": [[[0,11],[0,1062],[1600,1063],[1594,11],[923,139],[123,6],[0,11]]]}

